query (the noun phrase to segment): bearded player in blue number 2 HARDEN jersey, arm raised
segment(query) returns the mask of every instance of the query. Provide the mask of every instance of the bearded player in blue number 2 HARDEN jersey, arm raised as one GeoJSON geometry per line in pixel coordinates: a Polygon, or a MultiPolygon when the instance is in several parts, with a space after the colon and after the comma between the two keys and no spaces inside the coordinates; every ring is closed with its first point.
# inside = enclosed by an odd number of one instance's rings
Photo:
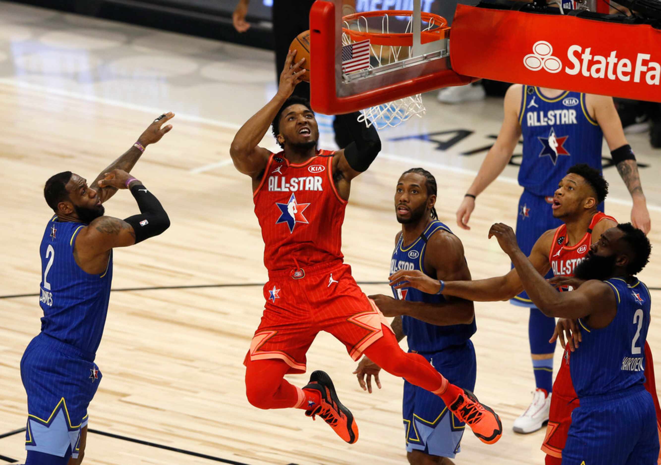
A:
{"type": "Polygon", "coordinates": [[[574,271],[572,292],[557,292],[527,259],[512,228],[489,237],[512,259],[531,300],[549,317],[578,320],[580,347],[569,369],[580,406],[572,411],[563,465],[652,465],[659,456],[656,410],[643,386],[650,293],[635,277],[650,242],[631,223],[605,231],[574,271]]]}

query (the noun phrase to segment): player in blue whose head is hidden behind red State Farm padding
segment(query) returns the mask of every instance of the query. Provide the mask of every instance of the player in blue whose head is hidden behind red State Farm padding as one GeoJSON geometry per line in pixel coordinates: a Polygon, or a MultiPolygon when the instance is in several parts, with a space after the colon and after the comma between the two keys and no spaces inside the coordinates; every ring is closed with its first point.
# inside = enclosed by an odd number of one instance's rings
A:
{"type": "MultiPolygon", "coordinates": [[[[523,135],[523,158],[519,184],[524,192],[517,207],[516,237],[525,254],[545,231],[561,225],[553,217],[553,192],[570,166],[586,163],[602,171],[602,141],[605,137],[613,162],[633,199],[631,221],[647,233],[650,217],[642,193],[638,167],[625,139],[613,98],[563,90],[512,85],[504,102],[505,116],[493,147],[457,210],[457,224],[467,223],[475,198],[491,184],[510,161],[523,135]]],[[[603,204],[598,207],[603,211],[603,204]]],[[[551,277],[549,272],[547,277],[551,277]]],[[[530,307],[528,336],[537,389],[529,408],[514,421],[514,431],[531,433],[549,418],[553,386],[555,341],[549,339],[555,320],[544,316],[524,293],[513,304],[530,307]]]]}

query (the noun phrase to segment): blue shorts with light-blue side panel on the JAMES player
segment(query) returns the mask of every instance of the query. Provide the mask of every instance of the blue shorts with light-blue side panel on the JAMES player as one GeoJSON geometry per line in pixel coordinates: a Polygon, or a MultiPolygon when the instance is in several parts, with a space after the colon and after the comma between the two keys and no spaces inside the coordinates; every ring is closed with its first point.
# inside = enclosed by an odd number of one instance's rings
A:
{"type": "Polygon", "coordinates": [[[101,381],[94,356],[40,333],[23,353],[20,377],[28,395],[26,450],[77,458],[101,381]]]}

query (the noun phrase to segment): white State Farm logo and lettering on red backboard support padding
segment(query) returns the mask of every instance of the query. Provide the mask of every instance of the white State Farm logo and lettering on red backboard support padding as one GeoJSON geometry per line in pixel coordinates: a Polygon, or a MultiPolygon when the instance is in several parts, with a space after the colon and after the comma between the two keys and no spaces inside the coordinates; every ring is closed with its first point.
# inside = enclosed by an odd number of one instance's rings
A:
{"type": "MultiPolygon", "coordinates": [[[[582,48],[574,44],[567,49],[567,59],[571,67],[564,67],[564,72],[572,76],[580,73],[594,79],[659,85],[661,65],[652,61],[651,57],[650,54],[642,53],[637,54],[635,59],[633,56],[632,59],[618,57],[617,50],[611,51],[608,55],[593,55],[592,47],[582,48]]],[[[524,57],[524,65],[530,71],[545,69],[549,73],[558,73],[563,69],[560,59],[553,56],[553,46],[545,40],[535,42],[533,53],[524,57]]]]}

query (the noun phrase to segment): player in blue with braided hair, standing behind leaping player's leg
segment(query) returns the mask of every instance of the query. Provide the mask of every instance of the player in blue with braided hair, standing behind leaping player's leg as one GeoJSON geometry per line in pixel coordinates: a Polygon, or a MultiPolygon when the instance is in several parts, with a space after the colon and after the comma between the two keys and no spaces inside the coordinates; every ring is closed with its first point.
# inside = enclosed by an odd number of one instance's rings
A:
{"type": "MultiPolygon", "coordinates": [[[[420,270],[433,279],[470,280],[461,240],[438,221],[436,179],[422,168],[405,171],[395,190],[395,213],[402,229],[395,236],[391,275],[401,269],[420,270]]],[[[472,391],[475,387],[475,333],[473,302],[457,297],[426,294],[413,287],[395,289],[395,299],[371,295],[391,326],[397,341],[407,336],[408,351],[427,359],[449,382],[472,391]]],[[[381,368],[364,357],[354,373],[371,392],[371,376],[381,388],[381,368]],[[367,376],[367,381],[365,380],[367,376]]],[[[442,398],[404,382],[403,419],[410,464],[451,465],[459,452],[463,423],[454,418],[442,398]],[[418,434],[421,424],[428,434],[418,434]]]]}

